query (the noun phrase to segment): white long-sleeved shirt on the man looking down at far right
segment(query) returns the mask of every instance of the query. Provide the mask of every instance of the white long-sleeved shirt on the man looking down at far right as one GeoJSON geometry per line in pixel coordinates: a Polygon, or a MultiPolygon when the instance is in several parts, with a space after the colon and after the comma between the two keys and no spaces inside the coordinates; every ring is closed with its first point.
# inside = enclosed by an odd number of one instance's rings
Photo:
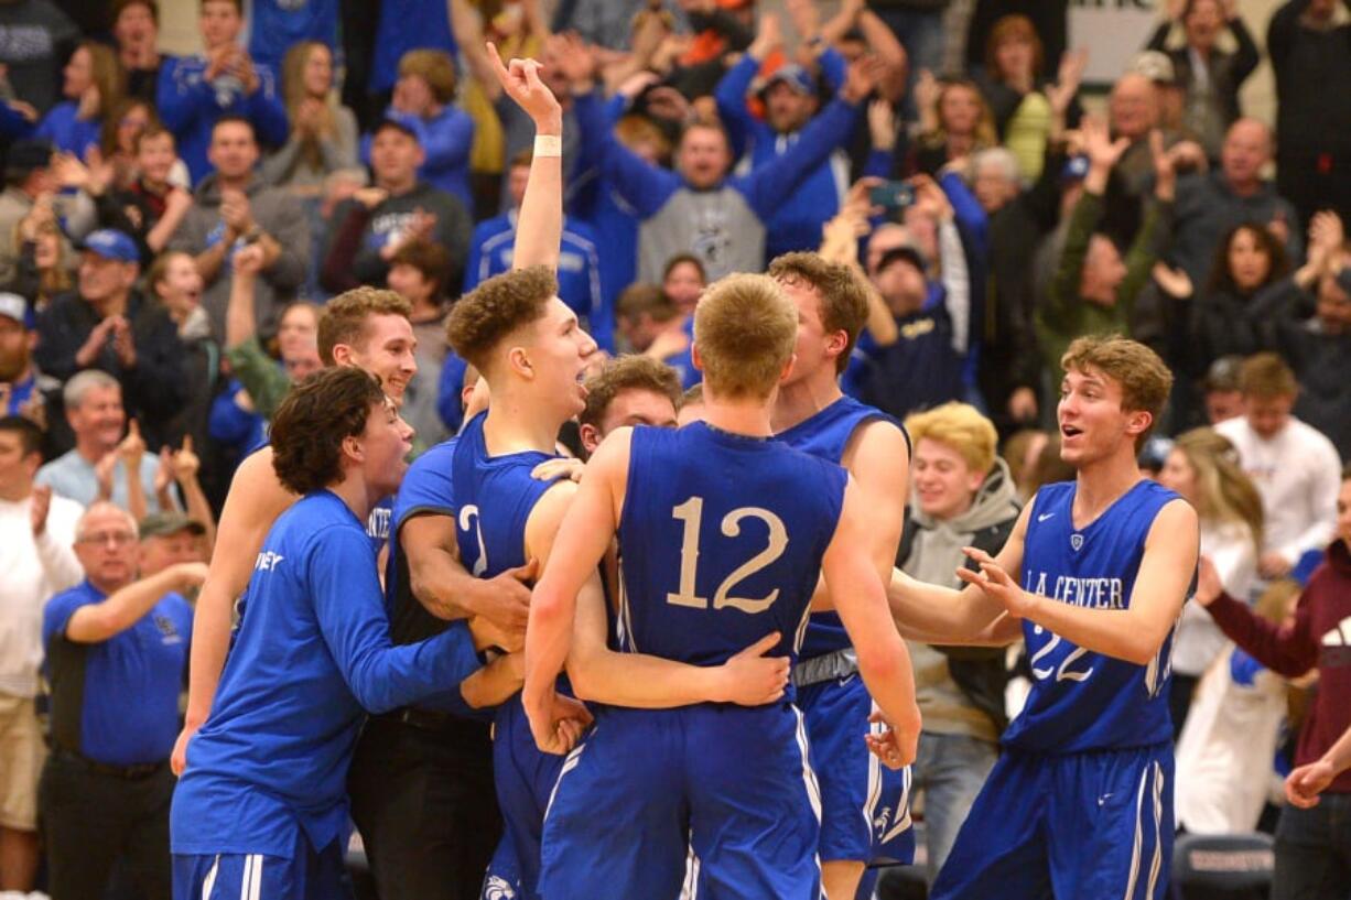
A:
{"type": "Polygon", "coordinates": [[[1342,488],[1342,459],[1332,442],[1293,416],[1271,439],[1260,438],[1242,416],[1215,430],[1238,449],[1243,470],[1262,495],[1262,549],[1292,564],[1309,550],[1325,549],[1336,532],[1342,488]]]}

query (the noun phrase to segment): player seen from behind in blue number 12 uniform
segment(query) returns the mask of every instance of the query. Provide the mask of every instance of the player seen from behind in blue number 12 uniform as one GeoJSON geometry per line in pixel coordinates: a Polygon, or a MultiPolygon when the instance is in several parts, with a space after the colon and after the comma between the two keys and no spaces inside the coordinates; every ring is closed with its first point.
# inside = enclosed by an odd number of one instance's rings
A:
{"type": "Polygon", "coordinates": [[[551,750],[569,736],[569,707],[554,688],[565,658],[578,695],[608,705],[554,789],[544,896],[673,897],[689,850],[700,896],[820,895],[820,805],[790,697],[674,709],[616,697],[621,685],[601,666],[604,609],[588,589],[616,534],[621,649],[694,666],[763,641],[796,658],[824,569],[859,670],[897,727],[866,741],[893,768],[913,758],[909,659],[866,551],[863,500],[839,466],[773,441],[773,396],[792,369],[797,319],[769,277],[709,288],[694,324],[707,422],[620,428],[582,476],[531,601],[524,699],[536,742],[551,750]]]}

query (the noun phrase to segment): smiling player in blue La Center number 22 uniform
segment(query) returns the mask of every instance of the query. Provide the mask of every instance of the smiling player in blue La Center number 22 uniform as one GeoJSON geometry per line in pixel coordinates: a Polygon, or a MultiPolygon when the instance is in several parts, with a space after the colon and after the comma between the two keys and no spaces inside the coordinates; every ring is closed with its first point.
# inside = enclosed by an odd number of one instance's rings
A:
{"type": "Polygon", "coordinates": [[[1169,654],[1197,566],[1196,512],[1136,453],[1173,376],[1152,350],[1085,336],[1062,358],[1061,457],[961,592],[896,573],[893,611],[936,643],[1021,628],[1032,692],[931,896],[1162,900],[1173,850],[1169,654]]]}

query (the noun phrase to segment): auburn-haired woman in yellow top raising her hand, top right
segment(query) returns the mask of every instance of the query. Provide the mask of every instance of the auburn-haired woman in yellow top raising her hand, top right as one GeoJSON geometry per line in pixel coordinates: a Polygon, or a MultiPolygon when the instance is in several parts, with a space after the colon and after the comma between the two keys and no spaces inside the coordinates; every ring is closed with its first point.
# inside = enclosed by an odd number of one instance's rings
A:
{"type": "Polygon", "coordinates": [[[1046,80],[1046,55],[1032,20],[1023,15],[1004,16],[990,30],[985,51],[985,72],[975,82],[985,95],[994,116],[1000,142],[1017,158],[1024,181],[1032,182],[1042,173],[1046,146],[1063,128],[1078,124],[1082,109],[1077,93],[1085,51],[1061,58],[1054,84],[1046,80]]]}

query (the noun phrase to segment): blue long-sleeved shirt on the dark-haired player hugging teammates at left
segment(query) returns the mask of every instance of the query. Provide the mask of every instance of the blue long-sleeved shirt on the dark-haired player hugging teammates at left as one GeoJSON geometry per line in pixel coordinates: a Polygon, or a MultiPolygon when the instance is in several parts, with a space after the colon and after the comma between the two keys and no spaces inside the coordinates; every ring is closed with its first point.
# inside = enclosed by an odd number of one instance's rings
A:
{"type": "Polygon", "coordinates": [[[316,851],[347,828],[347,766],[366,712],[458,692],[463,632],[393,646],[362,523],[330,491],[272,527],[211,716],[188,746],[170,834],[180,854],[316,851]]]}

